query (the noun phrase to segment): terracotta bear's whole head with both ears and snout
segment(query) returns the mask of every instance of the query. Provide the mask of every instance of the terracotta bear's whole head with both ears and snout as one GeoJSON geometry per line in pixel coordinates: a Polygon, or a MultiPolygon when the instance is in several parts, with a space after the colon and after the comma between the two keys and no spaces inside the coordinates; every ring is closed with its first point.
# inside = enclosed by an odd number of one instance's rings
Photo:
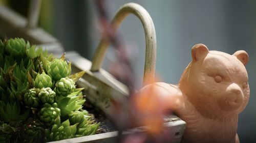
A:
{"type": "Polygon", "coordinates": [[[182,74],[179,87],[187,100],[204,116],[217,118],[238,115],[249,99],[245,65],[248,54],[230,55],[209,51],[203,44],[191,50],[193,61],[182,74]]]}

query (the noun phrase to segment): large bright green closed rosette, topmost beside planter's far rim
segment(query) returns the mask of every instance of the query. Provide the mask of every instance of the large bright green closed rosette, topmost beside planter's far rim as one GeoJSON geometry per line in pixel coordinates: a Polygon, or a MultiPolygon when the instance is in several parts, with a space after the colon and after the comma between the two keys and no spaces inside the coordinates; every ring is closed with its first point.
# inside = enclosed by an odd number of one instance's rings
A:
{"type": "Polygon", "coordinates": [[[68,64],[63,59],[54,59],[46,66],[46,71],[53,80],[57,81],[71,73],[71,63],[68,64]]]}

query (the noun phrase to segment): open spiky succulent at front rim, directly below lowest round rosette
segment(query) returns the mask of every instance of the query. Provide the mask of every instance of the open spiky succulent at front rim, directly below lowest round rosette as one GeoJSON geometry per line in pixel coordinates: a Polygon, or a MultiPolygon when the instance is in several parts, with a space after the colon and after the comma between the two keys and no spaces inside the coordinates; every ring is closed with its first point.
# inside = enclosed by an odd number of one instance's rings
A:
{"type": "Polygon", "coordinates": [[[70,126],[69,120],[61,123],[60,125],[53,125],[51,130],[46,129],[46,141],[56,141],[75,137],[76,124],[70,126]]]}

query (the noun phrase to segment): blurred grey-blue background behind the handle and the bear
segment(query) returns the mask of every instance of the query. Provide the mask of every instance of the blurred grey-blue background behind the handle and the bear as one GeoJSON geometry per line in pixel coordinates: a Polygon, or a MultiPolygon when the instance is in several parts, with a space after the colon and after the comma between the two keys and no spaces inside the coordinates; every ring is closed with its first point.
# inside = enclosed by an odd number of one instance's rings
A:
{"type": "MultiPolygon", "coordinates": [[[[1,0],[2,3],[7,3],[1,0]]],[[[16,1],[15,1],[16,2],[16,1]]],[[[24,1],[25,2],[25,1],[24,1]]],[[[246,50],[249,63],[250,101],[239,117],[241,142],[256,139],[256,2],[210,0],[109,0],[106,8],[113,17],[118,8],[128,2],[138,3],[150,13],[157,34],[156,73],[161,81],[178,83],[181,73],[191,61],[191,47],[205,44],[209,50],[229,54],[246,50]]],[[[100,40],[100,28],[93,0],[44,0],[39,25],[57,37],[66,50],[77,50],[91,60],[100,40]]],[[[138,83],[144,65],[145,40],[143,27],[133,15],[128,16],[119,33],[130,49],[138,83]]],[[[113,53],[109,50],[103,68],[113,53]]]]}

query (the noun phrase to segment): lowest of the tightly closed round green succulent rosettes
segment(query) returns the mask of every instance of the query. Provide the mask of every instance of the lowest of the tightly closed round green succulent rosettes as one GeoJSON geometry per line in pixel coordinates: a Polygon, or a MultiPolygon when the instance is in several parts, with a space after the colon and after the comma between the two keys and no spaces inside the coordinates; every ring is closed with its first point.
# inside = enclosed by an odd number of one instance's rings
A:
{"type": "Polygon", "coordinates": [[[60,118],[60,109],[57,103],[48,104],[45,103],[41,110],[38,112],[38,116],[42,122],[55,124],[55,120],[60,118]]]}

